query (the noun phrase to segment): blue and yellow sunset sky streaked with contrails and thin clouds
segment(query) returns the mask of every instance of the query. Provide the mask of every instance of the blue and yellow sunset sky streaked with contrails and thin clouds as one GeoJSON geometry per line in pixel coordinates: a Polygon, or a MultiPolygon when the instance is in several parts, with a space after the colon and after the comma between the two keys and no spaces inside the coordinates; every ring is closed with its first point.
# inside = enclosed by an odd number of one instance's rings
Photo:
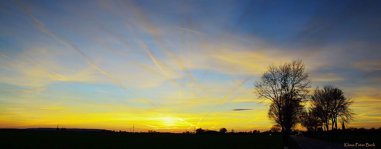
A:
{"type": "MultiPolygon", "coordinates": [[[[269,130],[252,93],[300,59],[381,127],[381,1],[2,0],[0,127],[269,130]]],[[[308,103],[307,103],[308,105],[308,103]]],[[[298,127],[298,129],[304,129],[298,127]]]]}

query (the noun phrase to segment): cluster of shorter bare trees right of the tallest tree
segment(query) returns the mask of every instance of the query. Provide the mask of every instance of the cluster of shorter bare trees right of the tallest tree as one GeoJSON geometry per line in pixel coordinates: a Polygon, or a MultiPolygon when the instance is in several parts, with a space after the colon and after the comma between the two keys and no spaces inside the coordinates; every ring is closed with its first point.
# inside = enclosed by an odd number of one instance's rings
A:
{"type": "Polygon", "coordinates": [[[324,131],[324,139],[328,136],[328,139],[337,141],[337,123],[339,122],[342,129],[345,129],[345,125],[354,121],[356,115],[353,109],[349,108],[354,100],[351,97],[345,97],[343,94],[341,89],[330,84],[323,86],[323,89],[316,87],[311,96],[311,107],[308,111],[303,111],[300,116],[301,126],[307,128],[309,134],[312,134],[313,132],[316,133],[320,126],[323,126],[324,130],[330,130],[331,125],[331,130],[335,131],[324,131]],[[334,133],[336,134],[335,138],[334,133]]]}

